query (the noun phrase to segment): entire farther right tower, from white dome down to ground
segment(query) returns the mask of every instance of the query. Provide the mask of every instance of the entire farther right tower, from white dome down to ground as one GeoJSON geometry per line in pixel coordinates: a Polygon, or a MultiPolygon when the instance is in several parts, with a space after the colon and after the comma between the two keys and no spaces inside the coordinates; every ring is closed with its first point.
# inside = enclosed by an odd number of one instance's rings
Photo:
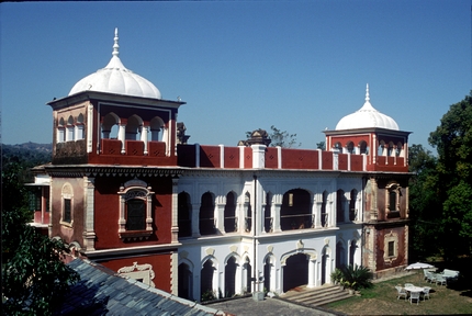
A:
{"type": "Polygon", "coordinates": [[[327,150],[363,155],[362,262],[377,276],[408,264],[408,135],[370,103],[325,131],[327,150]]]}

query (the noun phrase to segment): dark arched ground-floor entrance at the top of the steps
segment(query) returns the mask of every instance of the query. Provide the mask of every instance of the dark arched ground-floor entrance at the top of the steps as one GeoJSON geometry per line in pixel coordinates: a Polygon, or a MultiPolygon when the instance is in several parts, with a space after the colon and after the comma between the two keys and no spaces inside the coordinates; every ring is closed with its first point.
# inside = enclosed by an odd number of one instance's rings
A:
{"type": "Polygon", "coordinates": [[[308,283],[308,259],[305,253],[289,257],[283,267],[283,292],[308,283]]]}

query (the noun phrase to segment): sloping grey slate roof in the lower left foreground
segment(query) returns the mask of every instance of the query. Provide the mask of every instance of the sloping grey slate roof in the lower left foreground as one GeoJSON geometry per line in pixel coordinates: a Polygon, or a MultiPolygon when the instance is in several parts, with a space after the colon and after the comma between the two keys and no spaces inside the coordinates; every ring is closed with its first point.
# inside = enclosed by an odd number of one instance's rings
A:
{"type": "Polygon", "coordinates": [[[80,274],[56,315],[225,315],[194,302],[150,287],[83,259],[68,263],[80,274]]]}

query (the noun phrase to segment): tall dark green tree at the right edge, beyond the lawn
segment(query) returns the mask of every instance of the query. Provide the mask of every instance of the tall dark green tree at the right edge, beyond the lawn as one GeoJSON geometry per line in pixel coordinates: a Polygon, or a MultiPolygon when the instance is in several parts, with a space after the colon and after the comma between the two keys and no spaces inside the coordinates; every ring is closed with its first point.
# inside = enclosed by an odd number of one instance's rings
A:
{"type": "Polygon", "coordinates": [[[472,250],[472,91],[450,106],[428,140],[438,150],[442,247],[451,260],[472,250]]]}

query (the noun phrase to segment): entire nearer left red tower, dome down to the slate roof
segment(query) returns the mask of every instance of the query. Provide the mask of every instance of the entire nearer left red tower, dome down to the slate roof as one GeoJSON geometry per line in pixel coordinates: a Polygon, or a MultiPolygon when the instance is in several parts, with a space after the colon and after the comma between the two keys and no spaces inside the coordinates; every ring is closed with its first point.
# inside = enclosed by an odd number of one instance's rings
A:
{"type": "Polygon", "coordinates": [[[119,273],[141,273],[133,278],[177,294],[169,271],[177,274],[182,171],[176,120],[184,102],[164,100],[156,86],[124,67],[119,53],[115,30],[110,63],[48,103],[54,119],[53,161],[45,166],[48,235],[76,253],[119,273]]]}

